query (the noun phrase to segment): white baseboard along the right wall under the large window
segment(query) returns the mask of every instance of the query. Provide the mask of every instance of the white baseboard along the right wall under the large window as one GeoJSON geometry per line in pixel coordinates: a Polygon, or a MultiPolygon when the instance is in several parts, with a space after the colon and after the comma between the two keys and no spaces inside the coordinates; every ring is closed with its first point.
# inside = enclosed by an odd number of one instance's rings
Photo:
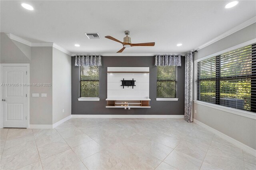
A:
{"type": "Polygon", "coordinates": [[[208,125],[205,125],[204,123],[202,123],[196,119],[193,119],[193,122],[201,127],[206,128],[207,130],[213,132],[214,134],[216,134],[217,136],[220,136],[221,138],[227,140],[228,142],[236,145],[238,148],[241,148],[242,150],[252,154],[253,156],[256,156],[256,150],[254,148],[251,148],[250,146],[247,146],[246,144],[243,144],[242,142],[239,142],[238,140],[231,138],[230,136],[228,136],[212,127],[209,127],[208,125]]]}

